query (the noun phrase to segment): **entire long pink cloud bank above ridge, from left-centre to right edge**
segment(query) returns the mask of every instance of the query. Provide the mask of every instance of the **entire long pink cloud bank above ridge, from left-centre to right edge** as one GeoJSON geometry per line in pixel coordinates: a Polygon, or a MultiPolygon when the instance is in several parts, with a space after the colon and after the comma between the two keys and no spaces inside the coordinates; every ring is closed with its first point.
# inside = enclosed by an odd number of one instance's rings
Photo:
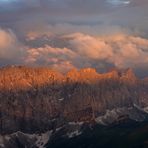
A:
{"type": "Polygon", "coordinates": [[[28,48],[26,64],[48,65],[60,71],[71,68],[95,67],[106,69],[114,65],[118,68],[135,68],[148,64],[148,39],[126,34],[91,36],[74,33],[58,38],[66,42],[66,47],[44,45],[28,48]]]}

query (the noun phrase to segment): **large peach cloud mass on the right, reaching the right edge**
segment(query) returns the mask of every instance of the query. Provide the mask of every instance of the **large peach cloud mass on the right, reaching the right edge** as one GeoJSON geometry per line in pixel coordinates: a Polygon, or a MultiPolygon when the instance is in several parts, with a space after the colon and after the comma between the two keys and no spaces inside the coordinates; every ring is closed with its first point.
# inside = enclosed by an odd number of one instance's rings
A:
{"type": "Polygon", "coordinates": [[[125,34],[93,37],[68,36],[71,48],[89,60],[103,60],[116,67],[136,67],[148,63],[148,39],[125,34]]]}

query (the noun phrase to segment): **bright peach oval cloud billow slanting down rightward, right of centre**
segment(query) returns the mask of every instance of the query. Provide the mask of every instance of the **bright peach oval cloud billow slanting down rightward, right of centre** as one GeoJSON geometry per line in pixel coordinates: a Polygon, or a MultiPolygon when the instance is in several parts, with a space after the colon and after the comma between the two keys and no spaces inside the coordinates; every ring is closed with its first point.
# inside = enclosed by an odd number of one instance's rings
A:
{"type": "Polygon", "coordinates": [[[104,60],[113,56],[110,45],[96,37],[84,34],[74,34],[69,43],[79,55],[91,59],[104,60]]]}

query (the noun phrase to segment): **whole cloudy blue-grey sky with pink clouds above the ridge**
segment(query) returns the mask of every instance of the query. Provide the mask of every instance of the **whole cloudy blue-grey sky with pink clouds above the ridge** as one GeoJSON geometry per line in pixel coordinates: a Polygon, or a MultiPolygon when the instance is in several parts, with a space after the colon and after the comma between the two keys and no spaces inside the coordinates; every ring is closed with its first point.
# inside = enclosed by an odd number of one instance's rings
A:
{"type": "Polygon", "coordinates": [[[147,0],[0,0],[0,66],[133,68],[148,75],[147,0]]]}

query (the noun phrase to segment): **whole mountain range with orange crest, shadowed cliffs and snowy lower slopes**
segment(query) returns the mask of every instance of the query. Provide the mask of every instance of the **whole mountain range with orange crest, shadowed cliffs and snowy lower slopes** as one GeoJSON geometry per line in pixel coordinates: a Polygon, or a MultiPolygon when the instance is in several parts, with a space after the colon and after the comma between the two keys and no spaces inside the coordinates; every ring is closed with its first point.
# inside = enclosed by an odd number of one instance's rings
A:
{"type": "Polygon", "coordinates": [[[130,68],[62,74],[48,67],[3,67],[0,147],[51,147],[50,139],[77,137],[98,125],[139,125],[148,119],[147,90],[148,78],[130,68]]]}

